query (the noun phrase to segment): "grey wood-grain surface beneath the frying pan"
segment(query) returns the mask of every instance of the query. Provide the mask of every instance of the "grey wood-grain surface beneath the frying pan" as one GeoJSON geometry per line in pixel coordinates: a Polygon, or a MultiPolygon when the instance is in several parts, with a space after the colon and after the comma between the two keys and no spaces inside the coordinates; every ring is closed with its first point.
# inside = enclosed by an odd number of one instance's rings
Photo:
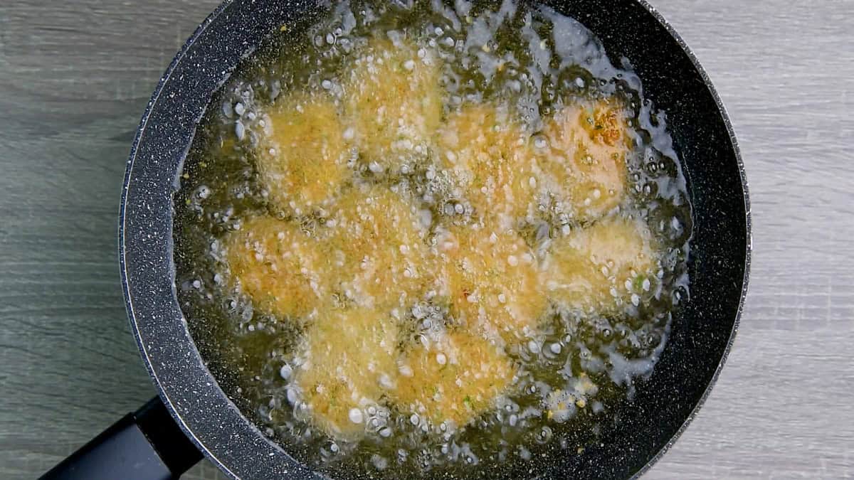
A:
{"type": "MultiPolygon", "coordinates": [[[[216,3],[0,2],[0,478],[154,395],[121,297],[120,185],[150,92],[216,3]]],[[[854,476],[854,1],[653,3],[732,114],[755,254],[728,365],[647,477],[854,476]]]]}

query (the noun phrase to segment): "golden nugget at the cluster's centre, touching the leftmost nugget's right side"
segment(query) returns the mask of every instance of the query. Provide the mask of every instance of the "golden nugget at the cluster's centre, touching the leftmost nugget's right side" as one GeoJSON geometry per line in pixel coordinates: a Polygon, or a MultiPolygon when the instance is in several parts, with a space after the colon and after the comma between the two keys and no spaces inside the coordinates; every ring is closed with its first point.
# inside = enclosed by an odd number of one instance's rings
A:
{"type": "MultiPolygon", "coordinates": [[[[336,203],[326,245],[340,290],[364,307],[404,307],[434,278],[426,225],[405,196],[383,186],[351,190],[336,203]]],[[[328,224],[329,225],[329,224],[328,224]]]]}

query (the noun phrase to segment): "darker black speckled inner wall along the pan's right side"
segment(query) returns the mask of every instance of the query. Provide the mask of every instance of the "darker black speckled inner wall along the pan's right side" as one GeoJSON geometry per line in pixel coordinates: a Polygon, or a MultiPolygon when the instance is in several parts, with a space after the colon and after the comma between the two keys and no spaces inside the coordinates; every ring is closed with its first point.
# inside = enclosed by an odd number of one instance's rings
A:
{"type": "Polygon", "coordinates": [[[646,97],[668,113],[693,208],[691,300],[652,378],[605,435],[578,459],[589,477],[629,477],[663,448],[703,399],[740,313],[747,225],[740,159],[715,97],[682,46],[636,2],[548,2],[582,19],[612,60],[626,57],[646,97]]]}

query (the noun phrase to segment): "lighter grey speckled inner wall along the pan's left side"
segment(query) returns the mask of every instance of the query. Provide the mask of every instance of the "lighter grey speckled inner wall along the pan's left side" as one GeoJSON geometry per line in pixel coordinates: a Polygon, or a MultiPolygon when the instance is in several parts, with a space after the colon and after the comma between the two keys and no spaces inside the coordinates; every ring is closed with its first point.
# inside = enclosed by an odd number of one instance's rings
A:
{"type": "Polygon", "coordinates": [[[270,32],[285,22],[304,20],[320,7],[311,0],[224,3],[161,80],[143,115],[126,173],[120,264],[132,330],[178,424],[232,477],[315,475],[243,419],[202,363],[175,296],[173,192],[213,93],[270,32]]]}

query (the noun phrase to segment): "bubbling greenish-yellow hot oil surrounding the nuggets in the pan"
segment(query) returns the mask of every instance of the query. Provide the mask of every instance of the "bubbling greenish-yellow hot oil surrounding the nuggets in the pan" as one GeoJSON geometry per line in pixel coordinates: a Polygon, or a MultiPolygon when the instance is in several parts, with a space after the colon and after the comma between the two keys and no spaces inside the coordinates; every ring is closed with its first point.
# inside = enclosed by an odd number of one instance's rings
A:
{"type": "MultiPolygon", "coordinates": [[[[447,152],[432,139],[404,140],[403,149],[395,150],[402,160],[394,168],[348,146],[352,174],[338,188],[384,188],[414,199],[425,248],[434,252],[447,231],[483,228],[477,192],[462,191],[442,168],[447,152]]],[[[535,201],[528,210],[496,221],[524,239],[536,262],[546,263],[562,239],[602,220],[564,208],[543,193],[541,177],[531,178],[535,201]]],[[[483,188],[494,199],[495,192],[483,188]]],[[[178,299],[202,357],[261,431],[332,476],[503,477],[536,471],[555,455],[582,452],[614,421],[616,406],[652,373],[672,313],[688,296],[691,211],[664,114],[643,97],[629,63],[614,67],[575,20],[512,2],[339,3],[312,26],[282,26],[213,99],[185,163],[175,214],[178,299]],[[656,265],[650,275],[635,272],[624,285],[621,277],[611,286],[621,297],[611,311],[550,300],[520,340],[493,336],[492,344],[503,348],[516,370],[510,386],[471,424],[454,429],[431,423],[425,413],[403,412],[383,397],[349,413],[365,433],[348,439],[317,428],[304,392],[295,387],[295,372],[311,361],[304,343],[312,321],[274,315],[237,288],[225,239],[258,217],[299,225],[318,242],[335,231],[336,219],[328,212],[334,206],[275,201],[259,155],[266,155],[271,104],[295,91],[314,91],[335,99],[342,110],[352,62],[376,38],[411,45],[412,61],[430,57],[442,66],[443,122],[467,106],[500,105],[506,112],[501,121],[518,122],[535,155],[553,148],[549,121],[564,108],[597,100],[623,105],[633,145],[625,160],[628,194],[608,216],[649,228],[656,265]]],[[[360,299],[336,291],[327,301],[348,308],[360,299]]],[[[465,328],[451,305],[452,298],[427,291],[397,308],[392,318],[399,348],[441,342],[444,332],[465,328]]],[[[466,396],[463,402],[471,407],[477,399],[466,396]]]]}

